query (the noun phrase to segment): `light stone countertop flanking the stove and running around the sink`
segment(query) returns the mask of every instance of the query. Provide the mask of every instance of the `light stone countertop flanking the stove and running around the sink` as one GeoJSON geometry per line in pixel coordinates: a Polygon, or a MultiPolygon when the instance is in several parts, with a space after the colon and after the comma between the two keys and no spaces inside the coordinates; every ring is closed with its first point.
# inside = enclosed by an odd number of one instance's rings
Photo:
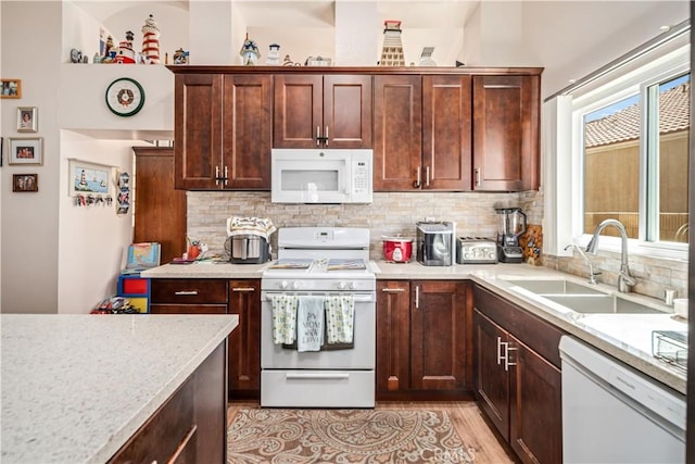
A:
{"type": "MultiPolygon", "coordinates": [[[[261,278],[270,264],[166,264],[143,273],[143,277],[198,277],[198,278],[261,278]]],[[[673,318],[673,309],[659,300],[621,293],[621,297],[650,305],[664,314],[586,314],[558,311],[557,305],[544,304],[528,293],[518,291],[509,279],[566,278],[578,284],[586,279],[528,264],[467,264],[453,266],[425,266],[416,261],[389,263],[383,260],[370,262],[377,280],[417,279],[470,279],[496,294],[516,303],[528,312],[549,322],[568,334],[617,358],[649,377],[685,394],[686,374],[652,355],[652,331],[657,329],[687,330],[687,323],[673,318]],[[629,327],[629,329],[626,329],[629,327]]],[[[596,288],[617,293],[614,286],[598,284],[596,288]]]]}

